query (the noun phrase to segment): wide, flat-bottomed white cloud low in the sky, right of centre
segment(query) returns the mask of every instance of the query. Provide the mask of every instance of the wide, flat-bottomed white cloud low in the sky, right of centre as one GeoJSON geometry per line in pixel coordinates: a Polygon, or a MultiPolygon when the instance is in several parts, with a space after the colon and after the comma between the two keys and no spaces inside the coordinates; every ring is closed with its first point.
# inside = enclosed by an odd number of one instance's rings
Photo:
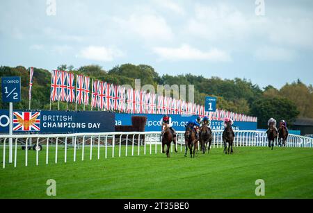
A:
{"type": "Polygon", "coordinates": [[[178,48],[156,47],[154,53],[160,56],[161,60],[209,60],[214,62],[227,62],[231,57],[225,51],[211,49],[209,51],[200,51],[188,44],[182,44],[178,48]]]}

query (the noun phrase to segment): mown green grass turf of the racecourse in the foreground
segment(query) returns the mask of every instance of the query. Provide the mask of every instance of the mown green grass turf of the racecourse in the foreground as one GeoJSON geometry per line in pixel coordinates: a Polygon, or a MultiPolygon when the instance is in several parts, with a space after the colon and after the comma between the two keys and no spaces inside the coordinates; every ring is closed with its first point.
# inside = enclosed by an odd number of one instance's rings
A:
{"type": "MultiPolygon", "coordinates": [[[[158,147],[159,148],[159,147],[158,147]]],[[[2,150],[0,150],[2,157],[2,150]]],[[[179,147],[180,151],[180,147],[179,147]]],[[[184,151],[184,148],[183,148],[184,151]]],[[[198,154],[191,159],[184,153],[104,158],[101,149],[81,149],[73,162],[73,149],[68,149],[64,163],[64,148],[58,150],[58,164],[54,163],[54,148],[49,150],[49,164],[45,151],[40,152],[35,166],[35,151],[29,151],[29,166],[24,166],[25,151],[18,151],[17,168],[6,164],[0,169],[0,198],[313,198],[313,149],[235,147],[233,155],[214,148],[211,154],[198,154]],[[56,197],[46,195],[48,179],[56,180],[56,197]],[[265,196],[255,196],[255,180],[265,181],[265,196]]],[[[8,151],[7,151],[8,153],[8,151]]],[[[131,149],[129,148],[129,155],[131,149]]],[[[1,158],[2,159],[2,158],[1,158]]],[[[1,160],[2,161],[2,160],[1,160]]],[[[2,167],[2,164],[1,164],[2,167]]]]}

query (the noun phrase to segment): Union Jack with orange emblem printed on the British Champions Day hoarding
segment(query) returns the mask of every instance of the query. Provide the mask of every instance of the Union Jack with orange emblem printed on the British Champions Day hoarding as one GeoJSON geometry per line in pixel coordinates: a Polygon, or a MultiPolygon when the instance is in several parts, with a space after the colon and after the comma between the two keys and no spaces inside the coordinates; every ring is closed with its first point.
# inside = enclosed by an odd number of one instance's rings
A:
{"type": "Polygon", "coordinates": [[[40,131],[40,112],[13,112],[13,131],[40,131]]]}

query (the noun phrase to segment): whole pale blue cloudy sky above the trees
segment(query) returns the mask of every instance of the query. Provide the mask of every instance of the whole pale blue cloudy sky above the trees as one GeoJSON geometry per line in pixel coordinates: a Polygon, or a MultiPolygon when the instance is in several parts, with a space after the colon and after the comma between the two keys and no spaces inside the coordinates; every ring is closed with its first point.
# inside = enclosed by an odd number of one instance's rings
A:
{"type": "Polygon", "coordinates": [[[133,63],[261,87],[313,84],[313,1],[264,3],[257,15],[255,0],[56,0],[54,15],[53,0],[1,0],[0,65],[133,63]]]}

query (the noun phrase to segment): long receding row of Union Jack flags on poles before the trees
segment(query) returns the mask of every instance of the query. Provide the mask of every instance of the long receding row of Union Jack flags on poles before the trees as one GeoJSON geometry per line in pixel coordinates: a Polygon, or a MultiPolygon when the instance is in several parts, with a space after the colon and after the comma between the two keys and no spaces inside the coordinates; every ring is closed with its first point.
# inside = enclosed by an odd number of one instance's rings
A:
{"type": "MultiPolygon", "coordinates": [[[[31,71],[30,96],[32,76],[31,71]]],[[[76,87],[74,85],[74,74],[67,71],[52,71],[50,100],[80,105],[89,105],[90,102],[91,108],[94,109],[131,114],[191,114],[200,115],[201,117],[209,116],[209,112],[205,112],[203,105],[172,99],[172,97],[168,96],[158,96],[157,94],[131,88],[126,89],[120,85],[113,85],[100,80],[92,80],[92,89],[90,91],[90,78],[88,76],[77,75],[76,87]],[[90,92],[91,100],[89,100],[90,92]]],[[[223,120],[225,117],[230,117],[234,121],[257,122],[257,117],[250,117],[245,114],[225,110],[211,112],[212,120],[223,120]]]]}

